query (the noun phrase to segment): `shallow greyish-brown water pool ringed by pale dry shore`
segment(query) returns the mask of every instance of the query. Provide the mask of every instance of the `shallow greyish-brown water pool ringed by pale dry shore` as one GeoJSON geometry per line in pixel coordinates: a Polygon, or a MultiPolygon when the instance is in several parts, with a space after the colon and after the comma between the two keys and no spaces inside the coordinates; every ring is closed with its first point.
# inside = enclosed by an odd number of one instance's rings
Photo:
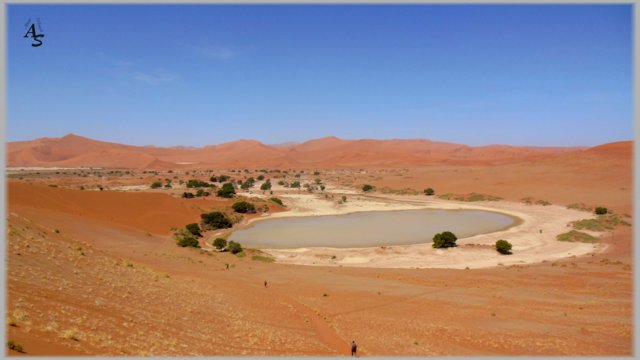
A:
{"type": "Polygon", "coordinates": [[[229,240],[252,248],[370,247],[430,243],[451,231],[458,238],[506,229],[515,218],[481,210],[371,211],[260,221],[229,240]]]}

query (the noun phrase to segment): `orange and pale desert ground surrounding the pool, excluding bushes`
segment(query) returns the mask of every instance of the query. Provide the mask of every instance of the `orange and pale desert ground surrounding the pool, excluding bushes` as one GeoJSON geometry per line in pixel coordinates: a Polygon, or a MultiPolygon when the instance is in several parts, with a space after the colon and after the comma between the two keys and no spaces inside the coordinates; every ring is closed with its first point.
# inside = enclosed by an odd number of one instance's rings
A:
{"type": "MultiPolygon", "coordinates": [[[[571,229],[570,221],[593,216],[569,204],[605,206],[630,219],[630,142],[518,151],[456,146],[473,155],[452,163],[445,161],[446,146],[442,158],[405,156],[387,143],[374,144],[390,147],[383,157],[358,156],[371,144],[329,138],[265,150],[265,158],[244,171],[255,160],[247,156],[260,148],[257,142],[240,143],[248,149],[246,162],[223,169],[215,161],[174,163],[206,160],[208,152],[224,154],[229,146],[93,148],[78,138],[9,144],[11,166],[41,167],[10,171],[7,182],[6,332],[27,355],[348,355],[354,339],[366,356],[633,354],[632,227],[599,232],[596,244],[554,239],[571,229]],[[60,143],[62,152],[54,146],[60,143]],[[323,154],[323,147],[338,150],[323,154]],[[139,148],[151,157],[132,154],[139,148]],[[291,160],[286,153],[295,148],[304,156],[291,160]],[[487,153],[498,150],[509,151],[487,153]],[[351,155],[339,160],[340,154],[351,155]],[[275,185],[297,179],[291,168],[304,169],[295,172],[303,183],[322,179],[334,199],[275,185]],[[221,173],[238,179],[264,174],[286,205],[268,203],[267,215],[245,216],[238,226],[258,221],[252,219],[418,207],[486,208],[523,222],[502,234],[460,239],[448,250],[267,250],[277,262],[261,261],[268,254],[251,249],[239,257],[176,246],[172,228],[197,222],[203,212],[229,212],[234,202],[182,199],[186,189],[178,181],[221,173]],[[148,188],[159,179],[170,179],[173,188],[148,188]],[[364,183],[377,190],[363,194],[364,183]],[[503,200],[434,199],[422,195],[426,187],[437,195],[476,192],[503,200]],[[339,205],[341,194],[348,200],[339,205]],[[528,197],[533,205],[523,203],[528,197]],[[487,246],[497,237],[513,243],[513,255],[487,246]]],[[[255,198],[271,196],[259,190],[246,195],[256,204],[267,202],[255,198]]],[[[213,233],[202,241],[209,237],[213,233]]]]}

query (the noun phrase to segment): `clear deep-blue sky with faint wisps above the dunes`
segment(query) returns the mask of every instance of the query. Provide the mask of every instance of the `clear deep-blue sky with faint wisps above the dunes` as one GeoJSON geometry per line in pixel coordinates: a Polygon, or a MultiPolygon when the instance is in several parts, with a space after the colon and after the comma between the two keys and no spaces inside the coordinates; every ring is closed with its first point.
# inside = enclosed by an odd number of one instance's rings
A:
{"type": "Polygon", "coordinates": [[[631,5],[9,5],[7,140],[633,138],[631,5]],[[40,18],[43,46],[23,38],[40,18]]]}

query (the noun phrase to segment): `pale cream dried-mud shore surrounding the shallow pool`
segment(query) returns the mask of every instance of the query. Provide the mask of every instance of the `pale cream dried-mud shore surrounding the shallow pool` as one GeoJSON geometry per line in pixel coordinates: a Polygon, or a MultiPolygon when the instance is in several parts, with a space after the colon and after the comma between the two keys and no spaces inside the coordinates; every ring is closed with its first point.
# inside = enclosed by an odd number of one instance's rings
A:
{"type": "MultiPolygon", "coordinates": [[[[425,196],[352,195],[345,204],[336,204],[321,194],[278,194],[291,209],[269,218],[348,214],[358,211],[406,209],[474,209],[497,211],[520,218],[509,229],[458,239],[458,247],[434,249],[431,243],[369,248],[263,249],[279,263],[321,266],[361,266],[380,268],[485,268],[500,265],[531,264],[582,256],[604,250],[601,244],[556,240],[571,230],[571,221],[595,215],[558,205],[526,205],[507,201],[465,203],[425,196]],[[542,230],[542,232],[540,232],[542,230]],[[505,239],[513,245],[512,255],[501,255],[495,242],[505,239]],[[476,245],[477,247],[473,247],[476,245]],[[335,258],[332,258],[335,257],[335,258]]],[[[337,194],[339,195],[339,194],[337,194]]],[[[339,199],[339,196],[335,196],[339,199]]],[[[261,221],[263,219],[252,219],[261,221]]],[[[595,235],[598,235],[595,233],[595,235]]]]}

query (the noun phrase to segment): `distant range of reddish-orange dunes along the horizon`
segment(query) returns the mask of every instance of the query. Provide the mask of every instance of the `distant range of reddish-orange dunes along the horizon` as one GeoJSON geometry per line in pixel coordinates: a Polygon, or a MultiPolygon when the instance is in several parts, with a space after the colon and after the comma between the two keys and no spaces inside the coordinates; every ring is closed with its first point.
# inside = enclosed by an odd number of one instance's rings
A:
{"type": "Polygon", "coordinates": [[[553,159],[562,155],[630,154],[631,142],[591,150],[491,145],[471,147],[426,139],[343,140],[325,137],[288,146],[239,140],[202,148],[129,146],[77,135],[8,144],[9,166],[96,166],[166,169],[189,167],[375,168],[424,165],[500,165],[553,159]]]}

